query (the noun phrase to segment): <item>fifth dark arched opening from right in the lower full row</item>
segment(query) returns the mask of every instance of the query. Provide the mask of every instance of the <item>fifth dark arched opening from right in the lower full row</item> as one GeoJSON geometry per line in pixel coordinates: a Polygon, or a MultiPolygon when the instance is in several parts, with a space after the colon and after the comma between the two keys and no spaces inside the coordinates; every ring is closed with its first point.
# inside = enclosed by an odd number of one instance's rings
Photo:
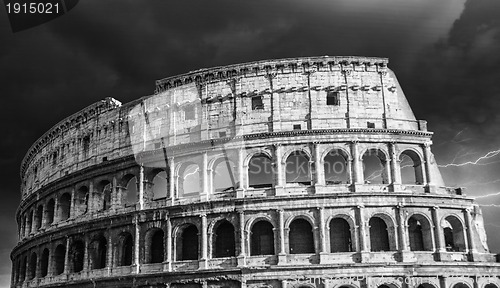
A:
{"type": "Polygon", "coordinates": [[[290,223],[290,254],[314,253],[314,235],[311,224],[305,219],[290,223]]]}

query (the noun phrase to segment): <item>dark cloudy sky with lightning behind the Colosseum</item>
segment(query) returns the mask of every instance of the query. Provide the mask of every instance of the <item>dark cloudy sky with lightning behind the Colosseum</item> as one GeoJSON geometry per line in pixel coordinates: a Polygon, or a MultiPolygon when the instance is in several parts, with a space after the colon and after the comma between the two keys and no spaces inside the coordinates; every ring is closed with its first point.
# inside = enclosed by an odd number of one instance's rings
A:
{"type": "MultiPolygon", "coordinates": [[[[80,1],[49,23],[12,33],[0,9],[0,261],[17,241],[19,165],[64,117],[105,97],[125,103],[154,81],[204,67],[271,58],[389,58],[418,119],[435,132],[449,186],[500,191],[500,1],[80,1]]],[[[500,196],[478,198],[500,206],[500,196]]],[[[500,209],[483,206],[500,252],[500,209]]],[[[0,267],[8,286],[10,265],[0,267]]],[[[3,287],[3,286],[2,286],[3,287]]]]}

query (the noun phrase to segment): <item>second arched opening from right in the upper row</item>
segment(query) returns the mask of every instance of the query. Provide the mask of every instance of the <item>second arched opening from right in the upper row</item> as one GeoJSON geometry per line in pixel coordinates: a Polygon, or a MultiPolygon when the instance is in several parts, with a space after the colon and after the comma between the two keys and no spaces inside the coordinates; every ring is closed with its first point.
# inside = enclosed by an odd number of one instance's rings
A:
{"type": "Polygon", "coordinates": [[[387,159],[379,149],[370,149],[363,154],[363,179],[365,184],[388,184],[387,159]]]}

